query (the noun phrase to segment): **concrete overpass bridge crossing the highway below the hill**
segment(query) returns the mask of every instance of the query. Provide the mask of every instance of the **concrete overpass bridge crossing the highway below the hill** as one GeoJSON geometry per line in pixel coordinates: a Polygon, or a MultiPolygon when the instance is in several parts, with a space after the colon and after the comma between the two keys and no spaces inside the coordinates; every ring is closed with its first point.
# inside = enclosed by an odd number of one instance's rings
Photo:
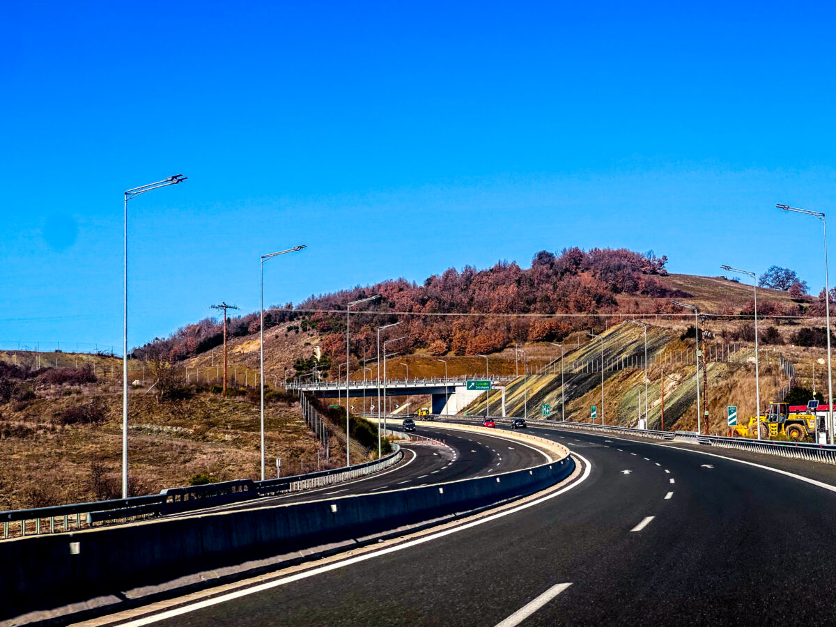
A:
{"type": "MultiPolygon", "coordinates": [[[[476,400],[485,390],[468,390],[468,382],[490,381],[492,390],[502,392],[502,415],[505,415],[505,384],[514,380],[513,376],[490,377],[431,377],[425,379],[390,379],[381,381],[350,381],[349,398],[363,395],[380,394],[385,396],[429,395],[432,398],[433,414],[457,414],[476,400]],[[380,388],[378,387],[380,385],[380,388]]],[[[346,395],[345,381],[315,381],[313,383],[288,383],[289,390],[311,392],[325,398],[337,398],[346,395]]]]}

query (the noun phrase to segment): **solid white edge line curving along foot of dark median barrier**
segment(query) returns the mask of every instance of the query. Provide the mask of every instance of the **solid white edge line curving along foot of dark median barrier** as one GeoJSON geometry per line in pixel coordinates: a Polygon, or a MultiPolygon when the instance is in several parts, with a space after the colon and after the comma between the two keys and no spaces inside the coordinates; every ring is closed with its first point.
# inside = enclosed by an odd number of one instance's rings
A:
{"type": "Polygon", "coordinates": [[[581,483],[587,480],[587,478],[589,477],[589,473],[592,472],[592,466],[589,464],[589,460],[587,460],[584,456],[578,455],[577,453],[573,453],[573,455],[578,457],[581,461],[583,461],[585,466],[584,474],[582,474],[577,481],[569,484],[567,487],[561,488],[557,492],[553,492],[552,494],[548,494],[545,497],[541,497],[534,501],[524,503],[519,507],[513,507],[512,509],[507,509],[504,512],[497,512],[495,514],[492,514],[492,516],[480,518],[479,520],[474,520],[471,523],[463,524],[460,527],[445,529],[444,531],[433,533],[429,536],[425,536],[424,538],[415,538],[415,540],[410,540],[409,542],[398,544],[394,547],[383,548],[380,551],[375,551],[374,553],[365,553],[364,555],[358,555],[355,558],[345,559],[342,562],[326,564],[325,566],[320,566],[319,568],[312,568],[311,570],[307,570],[303,573],[296,573],[293,575],[289,575],[288,577],[276,579],[275,581],[269,581],[264,584],[252,586],[252,588],[236,590],[235,592],[231,592],[229,594],[222,594],[221,596],[214,597],[213,599],[205,599],[203,601],[198,601],[195,604],[184,605],[175,609],[169,609],[165,612],[161,612],[160,614],[154,614],[152,616],[145,616],[145,618],[130,620],[127,623],[120,623],[120,627],[140,627],[141,625],[171,619],[175,616],[180,616],[181,614],[188,614],[190,612],[194,612],[197,609],[212,607],[212,605],[226,603],[227,601],[232,601],[232,599],[239,599],[243,596],[247,596],[248,594],[256,594],[258,592],[263,592],[264,590],[278,588],[278,586],[284,584],[291,584],[294,581],[299,581],[300,579],[308,579],[308,577],[313,577],[314,575],[318,575],[321,573],[329,573],[330,571],[336,570],[337,568],[344,568],[355,563],[365,562],[368,559],[380,557],[381,555],[387,555],[389,553],[395,553],[396,551],[402,551],[405,548],[415,547],[418,544],[430,542],[431,540],[436,540],[437,538],[444,538],[445,536],[449,536],[452,533],[458,533],[460,531],[464,531],[465,529],[477,527],[478,525],[491,523],[492,521],[497,520],[498,518],[510,516],[511,514],[515,514],[517,512],[522,512],[524,509],[528,509],[528,507],[534,507],[535,505],[540,505],[543,502],[550,501],[551,499],[560,496],[564,492],[572,490],[574,487],[579,486],[581,483]]]}

